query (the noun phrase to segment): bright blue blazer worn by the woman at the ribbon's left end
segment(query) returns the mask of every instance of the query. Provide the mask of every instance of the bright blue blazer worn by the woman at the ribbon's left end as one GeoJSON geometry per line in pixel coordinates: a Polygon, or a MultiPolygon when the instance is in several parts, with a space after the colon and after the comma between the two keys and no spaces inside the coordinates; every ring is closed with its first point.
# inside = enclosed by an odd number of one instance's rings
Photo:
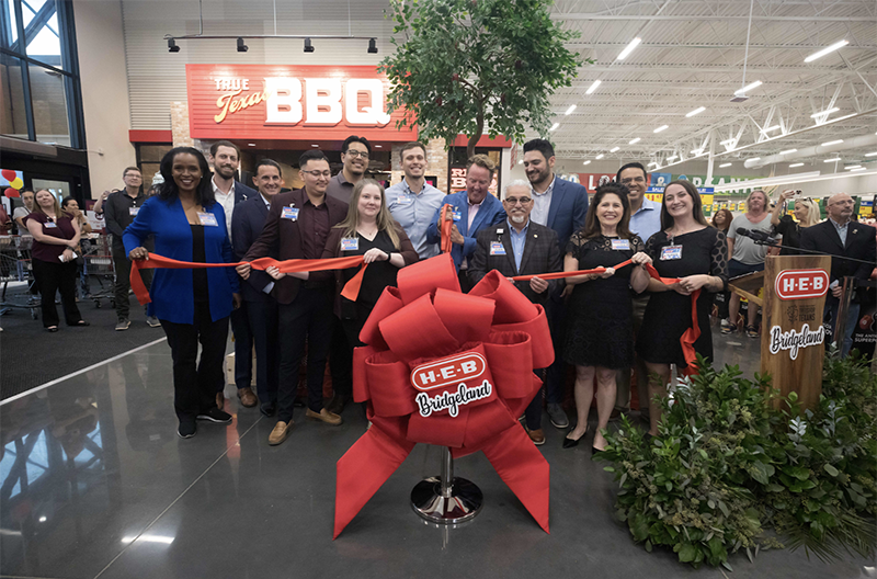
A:
{"type": "MultiPolygon", "coordinates": [[[[216,227],[204,227],[204,249],[208,263],[232,263],[231,243],[226,230],[226,215],[218,203],[207,207],[216,216],[216,227]]],[[[192,228],[185,218],[179,198],[166,202],[150,197],[143,204],[137,217],[125,229],[122,240],[125,253],[143,246],[155,236],[156,253],[180,261],[192,261],[192,228]]],[[[238,274],[234,268],[209,268],[210,317],[213,321],[231,314],[231,294],[238,292],[238,274]]],[[[195,295],[192,270],[157,269],[149,288],[156,317],[174,323],[194,323],[195,295]]]]}

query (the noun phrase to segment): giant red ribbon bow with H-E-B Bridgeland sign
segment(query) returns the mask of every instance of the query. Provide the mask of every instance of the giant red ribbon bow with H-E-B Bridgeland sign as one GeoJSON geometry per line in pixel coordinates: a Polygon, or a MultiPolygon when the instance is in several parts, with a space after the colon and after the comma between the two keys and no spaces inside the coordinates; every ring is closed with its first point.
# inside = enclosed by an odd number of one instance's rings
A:
{"type": "Polygon", "coordinates": [[[481,451],[548,532],[549,467],[517,422],[554,362],[545,311],[492,271],[463,294],[449,254],[399,271],[353,355],[372,428],[337,467],[334,537],[414,444],[481,451]]]}

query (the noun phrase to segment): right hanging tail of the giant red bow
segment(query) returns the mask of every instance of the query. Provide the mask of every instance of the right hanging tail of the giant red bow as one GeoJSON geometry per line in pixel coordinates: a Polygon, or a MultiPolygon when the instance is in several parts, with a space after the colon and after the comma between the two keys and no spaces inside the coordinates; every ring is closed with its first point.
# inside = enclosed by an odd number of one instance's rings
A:
{"type": "Polygon", "coordinates": [[[504,430],[490,439],[481,451],[543,531],[550,533],[550,467],[524,429],[515,424],[504,430]]]}

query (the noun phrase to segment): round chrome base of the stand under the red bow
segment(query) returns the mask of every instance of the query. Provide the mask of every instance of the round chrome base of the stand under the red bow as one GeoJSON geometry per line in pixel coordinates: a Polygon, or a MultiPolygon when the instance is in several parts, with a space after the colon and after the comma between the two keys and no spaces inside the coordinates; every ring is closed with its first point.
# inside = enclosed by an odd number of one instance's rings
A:
{"type": "Polygon", "coordinates": [[[437,524],[457,524],[474,519],[485,497],[475,483],[453,478],[448,496],[442,495],[441,477],[421,480],[411,490],[411,508],[421,518],[437,524]]]}

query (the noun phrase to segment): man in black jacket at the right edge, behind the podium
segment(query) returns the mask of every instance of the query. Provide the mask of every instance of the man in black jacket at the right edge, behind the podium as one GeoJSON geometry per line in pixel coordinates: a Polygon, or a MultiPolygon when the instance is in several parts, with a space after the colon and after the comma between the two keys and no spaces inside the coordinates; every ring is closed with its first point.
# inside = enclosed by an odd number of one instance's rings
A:
{"type": "MultiPolygon", "coordinates": [[[[877,259],[877,229],[853,222],[853,198],[846,193],[832,195],[825,205],[829,218],[821,224],[801,229],[801,249],[833,256],[831,259],[831,286],[829,295],[825,296],[823,316],[830,320],[835,342],[840,341],[840,337],[834,330],[838,323],[838,307],[842,296],[843,279],[850,276],[867,280],[874,271],[874,261],[877,259]],[[861,263],[843,258],[853,258],[870,263],[861,263]]],[[[853,294],[850,304],[843,342],[841,342],[842,356],[846,356],[853,345],[853,329],[858,320],[861,292],[862,290],[857,290],[853,294]]]]}

